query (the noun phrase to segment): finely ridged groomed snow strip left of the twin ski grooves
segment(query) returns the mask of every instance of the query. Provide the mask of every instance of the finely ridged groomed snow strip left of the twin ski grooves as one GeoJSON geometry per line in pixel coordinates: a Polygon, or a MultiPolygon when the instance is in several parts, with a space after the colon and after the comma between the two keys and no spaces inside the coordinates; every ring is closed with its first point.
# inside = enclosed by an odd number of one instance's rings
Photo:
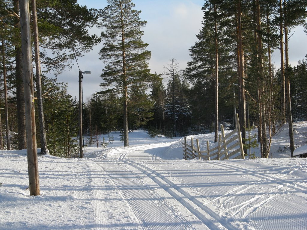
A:
{"type": "MultiPolygon", "coordinates": [[[[123,157],[123,155],[120,157],[123,157]]],[[[122,163],[95,160],[95,163],[109,175],[122,198],[133,210],[143,229],[195,230],[185,217],[178,214],[177,210],[173,208],[171,200],[160,197],[155,192],[155,186],[147,185],[142,180],[142,172],[131,171],[124,160],[120,161],[122,163]]]]}

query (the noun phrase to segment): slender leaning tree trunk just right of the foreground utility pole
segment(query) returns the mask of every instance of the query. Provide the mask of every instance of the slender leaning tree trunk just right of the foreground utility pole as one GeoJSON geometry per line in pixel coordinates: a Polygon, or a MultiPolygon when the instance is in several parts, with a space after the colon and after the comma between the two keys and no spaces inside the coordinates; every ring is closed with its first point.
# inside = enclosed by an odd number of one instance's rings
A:
{"type": "Polygon", "coordinates": [[[38,42],[38,28],[37,28],[37,11],[36,1],[32,0],[32,21],[33,21],[33,33],[34,33],[34,53],[35,53],[35,76],[36,76],[36,92],[37,92],[37,108],[38,108],[38,120],[40,125],[40,138],[41,138],[41,154],[45,155],[49,153],[47,148],[47,137],[45,128],[45,118],[43,109],[43,97],[41,92],[41,60],[39,54],[39,42],[38,42]]]}

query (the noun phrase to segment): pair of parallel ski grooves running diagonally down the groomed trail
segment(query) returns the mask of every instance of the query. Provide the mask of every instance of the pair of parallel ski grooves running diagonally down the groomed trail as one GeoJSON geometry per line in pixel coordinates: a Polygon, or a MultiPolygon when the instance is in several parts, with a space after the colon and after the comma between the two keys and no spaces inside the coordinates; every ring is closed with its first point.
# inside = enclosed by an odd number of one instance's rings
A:
{"type": "Polygon", "coordinates": [[[235,230],[234,226],[227,223],[218,214],[216,214],[212,209],[203,205],[203,203],[197,200],[194,196],[187,193],[185,190],[171,182],[169,179],[165,178],[163,175],[155,170],[150,169],[140,163],[136,163],[130,160],[121,160],[124,163],[138,169],[142,173],[146,174],[150,179],[152,179],[158,186],[169,193],[174,199],[176,199],[181,205],[187,208],[191,213],[193,213],[199,220],[206,224],[210,229],[220,229],[217,225],[222,225],[228,230],[235,230]],[[191,204],[192,203],[192,204],[191,204]],[[197,207],[194,208],[193,205],[197,207]],[[201,209],[204,212],[198,211],[201,209]]]}

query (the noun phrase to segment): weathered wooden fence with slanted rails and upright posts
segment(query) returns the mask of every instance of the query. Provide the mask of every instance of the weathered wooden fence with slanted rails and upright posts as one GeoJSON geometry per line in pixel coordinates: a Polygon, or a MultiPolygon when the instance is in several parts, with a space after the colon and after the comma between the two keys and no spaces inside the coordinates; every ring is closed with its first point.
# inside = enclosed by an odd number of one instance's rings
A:
{"type": "Polygon", "coordinates": [[[183,144],[183,159],[204,159],[204,160],[224,160],[224,159],[244,159],[242,137],[239,125],[239,116],[235,114],[236,128],[225,136],[224,127],[221,125],[221,134],[216,147],[210,149],[207,141],[207,150],[201,151],[199,140],[196,139],[196,147],[191,137],[191,145],[187,144],[187,138],[183,144]],[[235,135],[234,135],[235,134],[235,135]],[[235,143],[233,143],[235,141],[235,143]],[[230,146],[227,146],[231,144],[230,146]]]}

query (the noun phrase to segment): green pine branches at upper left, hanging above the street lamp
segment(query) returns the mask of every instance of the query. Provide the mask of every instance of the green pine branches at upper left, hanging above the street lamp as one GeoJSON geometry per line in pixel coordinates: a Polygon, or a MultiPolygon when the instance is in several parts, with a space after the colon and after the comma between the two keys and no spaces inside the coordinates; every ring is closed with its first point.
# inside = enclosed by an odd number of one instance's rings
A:
{"type": "Polygon", "coordinates": [[[97,35],[88,32],[98,19],[95,9],[80,6],[76,0],[36,0],[36,5],[41,63],[46,71],[58,75],[72,66],[75,56],[100,43],[97,35]]]}

